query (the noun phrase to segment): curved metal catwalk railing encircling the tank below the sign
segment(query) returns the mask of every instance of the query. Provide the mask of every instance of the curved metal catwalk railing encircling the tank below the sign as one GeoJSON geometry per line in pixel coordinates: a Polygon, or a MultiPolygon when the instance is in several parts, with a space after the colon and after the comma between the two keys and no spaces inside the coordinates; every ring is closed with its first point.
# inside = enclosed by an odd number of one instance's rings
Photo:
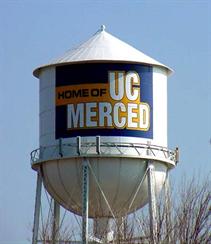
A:
{"type": "Polygon", "coordinates": [[[77,137],[76,143],[63,143],[40,147],[31,152],[31,163],[37,164],[46,160],[68,157],[135,157],[169,162],[175,165],[179,160],[178,148],[170,150],[166,147],[143,143],[82,142],[77,137]]]}

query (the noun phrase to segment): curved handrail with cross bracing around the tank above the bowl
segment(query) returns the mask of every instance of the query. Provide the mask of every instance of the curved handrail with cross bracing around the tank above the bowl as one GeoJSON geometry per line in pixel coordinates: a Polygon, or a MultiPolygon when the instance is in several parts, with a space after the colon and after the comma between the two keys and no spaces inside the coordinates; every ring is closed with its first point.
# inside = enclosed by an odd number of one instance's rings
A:
{"type": "MultiPolygon", "coordinates": [[[[125,152],[123,149],[134,149],[137,153],[137,157],[141,156],[153,156],[156,157],[158,153],[162,153],[162,158],[173,161],[173,163],[178,162],[178,148],[176,150],[170,150],[166,147],[161,147],[157,145],[149,145],[144,143],[116,143],[116,142],[100,142],[97,145],[96,142],[83,142],[80,144],[80,150],[77,150],[77,143],[60,143],[58,145],[50,145],[46,147],[41,147],[35,149],[31,152],[31,163],[35,164],[39,161],[46,159],[54,159],[55,157],[68,157],[68,156],[89,156],[89,155],[102,155],[102,156],[122,156],[131,155],[128,151],[125,152]],[[100,146],[100,147],[99,147],[100,146]],[[98,151],[100,148],[100,152],[98,151]],[[61,150],[65,150],[68,153],[61,153],[61,150]],[[68,149],[68,150],[67,150],[68,149]],[[111,152],[105,151],[105,149],[116,149],[111,152]],[[70,150],[72,152],[70,153],[70,150]],[[47,153],[47,157],[45,154],[47,153]]],[[[134,154],[135,155],[135,154],[134,154]]],[[[159,155],[159,157],[161,157],[159,155]]]]}

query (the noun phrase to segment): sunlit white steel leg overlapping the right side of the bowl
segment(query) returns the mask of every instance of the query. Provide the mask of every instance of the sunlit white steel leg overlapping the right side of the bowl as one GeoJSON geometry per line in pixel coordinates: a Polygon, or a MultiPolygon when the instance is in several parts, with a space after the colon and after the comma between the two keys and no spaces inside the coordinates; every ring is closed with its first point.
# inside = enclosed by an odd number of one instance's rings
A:
{"type": "Polygon", "coordinates": [[[155,177],[154,166],[152,161],[148,161],[148,197],[149,197],[149,214],[150,214],[150,238],[151,243],[156,244],[157,239],[157,211],[155,196],[155,177]]]}

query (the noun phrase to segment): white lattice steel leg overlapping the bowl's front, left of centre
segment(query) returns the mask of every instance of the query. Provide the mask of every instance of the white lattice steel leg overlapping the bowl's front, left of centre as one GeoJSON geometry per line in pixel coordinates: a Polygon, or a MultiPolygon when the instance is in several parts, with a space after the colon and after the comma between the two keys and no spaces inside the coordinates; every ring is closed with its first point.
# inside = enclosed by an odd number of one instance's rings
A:
{"type": "Polygon", "coordinates": [[[82,244],[88,244],[89,165],[86,158],[83,159],[82,171],[82,244]]]}

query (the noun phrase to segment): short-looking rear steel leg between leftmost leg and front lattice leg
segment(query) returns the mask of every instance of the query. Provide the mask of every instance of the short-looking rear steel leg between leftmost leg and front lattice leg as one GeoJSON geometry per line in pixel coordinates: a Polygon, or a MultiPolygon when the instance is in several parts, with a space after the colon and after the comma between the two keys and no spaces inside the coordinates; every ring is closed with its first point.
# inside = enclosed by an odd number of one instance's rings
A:
{"type": "Polygon", "coordinates": [[[54,213],[53,213],[53,230],[52,230],[52,242],[57,244],[59,241],[59,224],[60,224],[60,205],[54,200],[54,213]]]}

